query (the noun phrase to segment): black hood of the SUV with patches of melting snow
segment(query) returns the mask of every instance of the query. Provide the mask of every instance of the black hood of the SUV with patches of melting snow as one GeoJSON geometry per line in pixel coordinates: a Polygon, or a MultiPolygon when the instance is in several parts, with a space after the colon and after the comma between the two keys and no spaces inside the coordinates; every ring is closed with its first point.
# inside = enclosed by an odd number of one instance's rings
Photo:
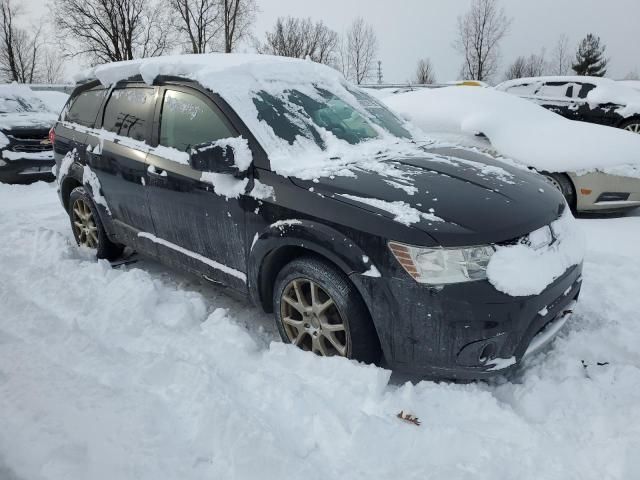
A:
{"type": "Polygon", "coordinates": [[[429,149],[423,158],[371,162],[350,171],[355,178],[292,180],[394,218],[398,228],[420,229],[444,246],[510,241],[548,225],[565,208],[560,192],[540,175],[464,148],[429,149]]]}

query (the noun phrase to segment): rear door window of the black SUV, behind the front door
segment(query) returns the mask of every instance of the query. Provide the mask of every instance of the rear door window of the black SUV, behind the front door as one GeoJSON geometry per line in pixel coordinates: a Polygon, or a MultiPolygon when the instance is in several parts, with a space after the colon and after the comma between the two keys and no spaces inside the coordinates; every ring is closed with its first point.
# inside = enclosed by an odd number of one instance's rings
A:
{"type": "Polygon", "coordinates": [[[102,128],[116,135],[145,141],[153,113],[155,89],[127,87],[113,90],[104,108],[102,128]]]}

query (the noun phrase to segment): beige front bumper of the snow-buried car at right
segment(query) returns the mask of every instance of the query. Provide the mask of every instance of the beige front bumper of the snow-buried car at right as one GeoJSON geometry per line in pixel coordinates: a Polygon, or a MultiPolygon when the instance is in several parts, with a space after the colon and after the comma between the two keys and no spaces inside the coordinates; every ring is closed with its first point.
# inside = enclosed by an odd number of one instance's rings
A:
{"type": "Polygon", "coordinates": [[[578,212],[613,212],[640,207],[640,179],[602,172],[570,173],[578,212]]]}

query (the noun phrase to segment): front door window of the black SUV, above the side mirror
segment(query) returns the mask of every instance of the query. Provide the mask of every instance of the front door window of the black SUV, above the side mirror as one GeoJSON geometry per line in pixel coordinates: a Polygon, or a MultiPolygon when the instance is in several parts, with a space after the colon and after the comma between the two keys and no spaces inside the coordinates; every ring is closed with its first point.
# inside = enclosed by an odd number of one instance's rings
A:
{"type": "Polygon", "coordinates": [[[237,136],[222,112],[196,95],[167,90],[162,104],[160,145],[186,152],[195,145],[237,136]]]}

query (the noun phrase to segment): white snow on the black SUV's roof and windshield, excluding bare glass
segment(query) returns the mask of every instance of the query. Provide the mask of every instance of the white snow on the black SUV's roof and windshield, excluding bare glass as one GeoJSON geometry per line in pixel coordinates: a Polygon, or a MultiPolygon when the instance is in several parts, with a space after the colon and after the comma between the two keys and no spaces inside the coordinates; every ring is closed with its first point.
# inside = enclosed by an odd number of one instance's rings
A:
{"type": "MultiPolygon", "coordinates": [[[[376,156],[424,155],[410,139],[391,135],[375,121],[371,122],[371,127],[377,136],[356,145],[321,127],[315,128],[319,138],[297,135],[289,142],[276,135],[271,126],[260,118],[255,100],[261,94],[283,101],[287,108],[286,118],[302,130],[308,118],[299,106],[287,100],[286,92],[291,89],[325,102],[318,94],[318,89],[323,89],[365,118],[373,118],[338,72],[311,61],[268,55],[178,55],[101,65],[77,79],[98,78],[104,85],[110,85],[135,75],[141,75],[149,84],[159,75],[183,76],[218,93],[243,119],[269,154],[274,171],[285,176],[311,179],[331,174],[344,175],[348,174],[345,166],[357,162],[370,163],[376,156]],[[318,145],[319,141],[324,148],[318,145]],[[301,163],[300,158],[305,162],[301,163]]],[[[374,99],[369,97],[366,102],[375,108],[374,99]]]]}

